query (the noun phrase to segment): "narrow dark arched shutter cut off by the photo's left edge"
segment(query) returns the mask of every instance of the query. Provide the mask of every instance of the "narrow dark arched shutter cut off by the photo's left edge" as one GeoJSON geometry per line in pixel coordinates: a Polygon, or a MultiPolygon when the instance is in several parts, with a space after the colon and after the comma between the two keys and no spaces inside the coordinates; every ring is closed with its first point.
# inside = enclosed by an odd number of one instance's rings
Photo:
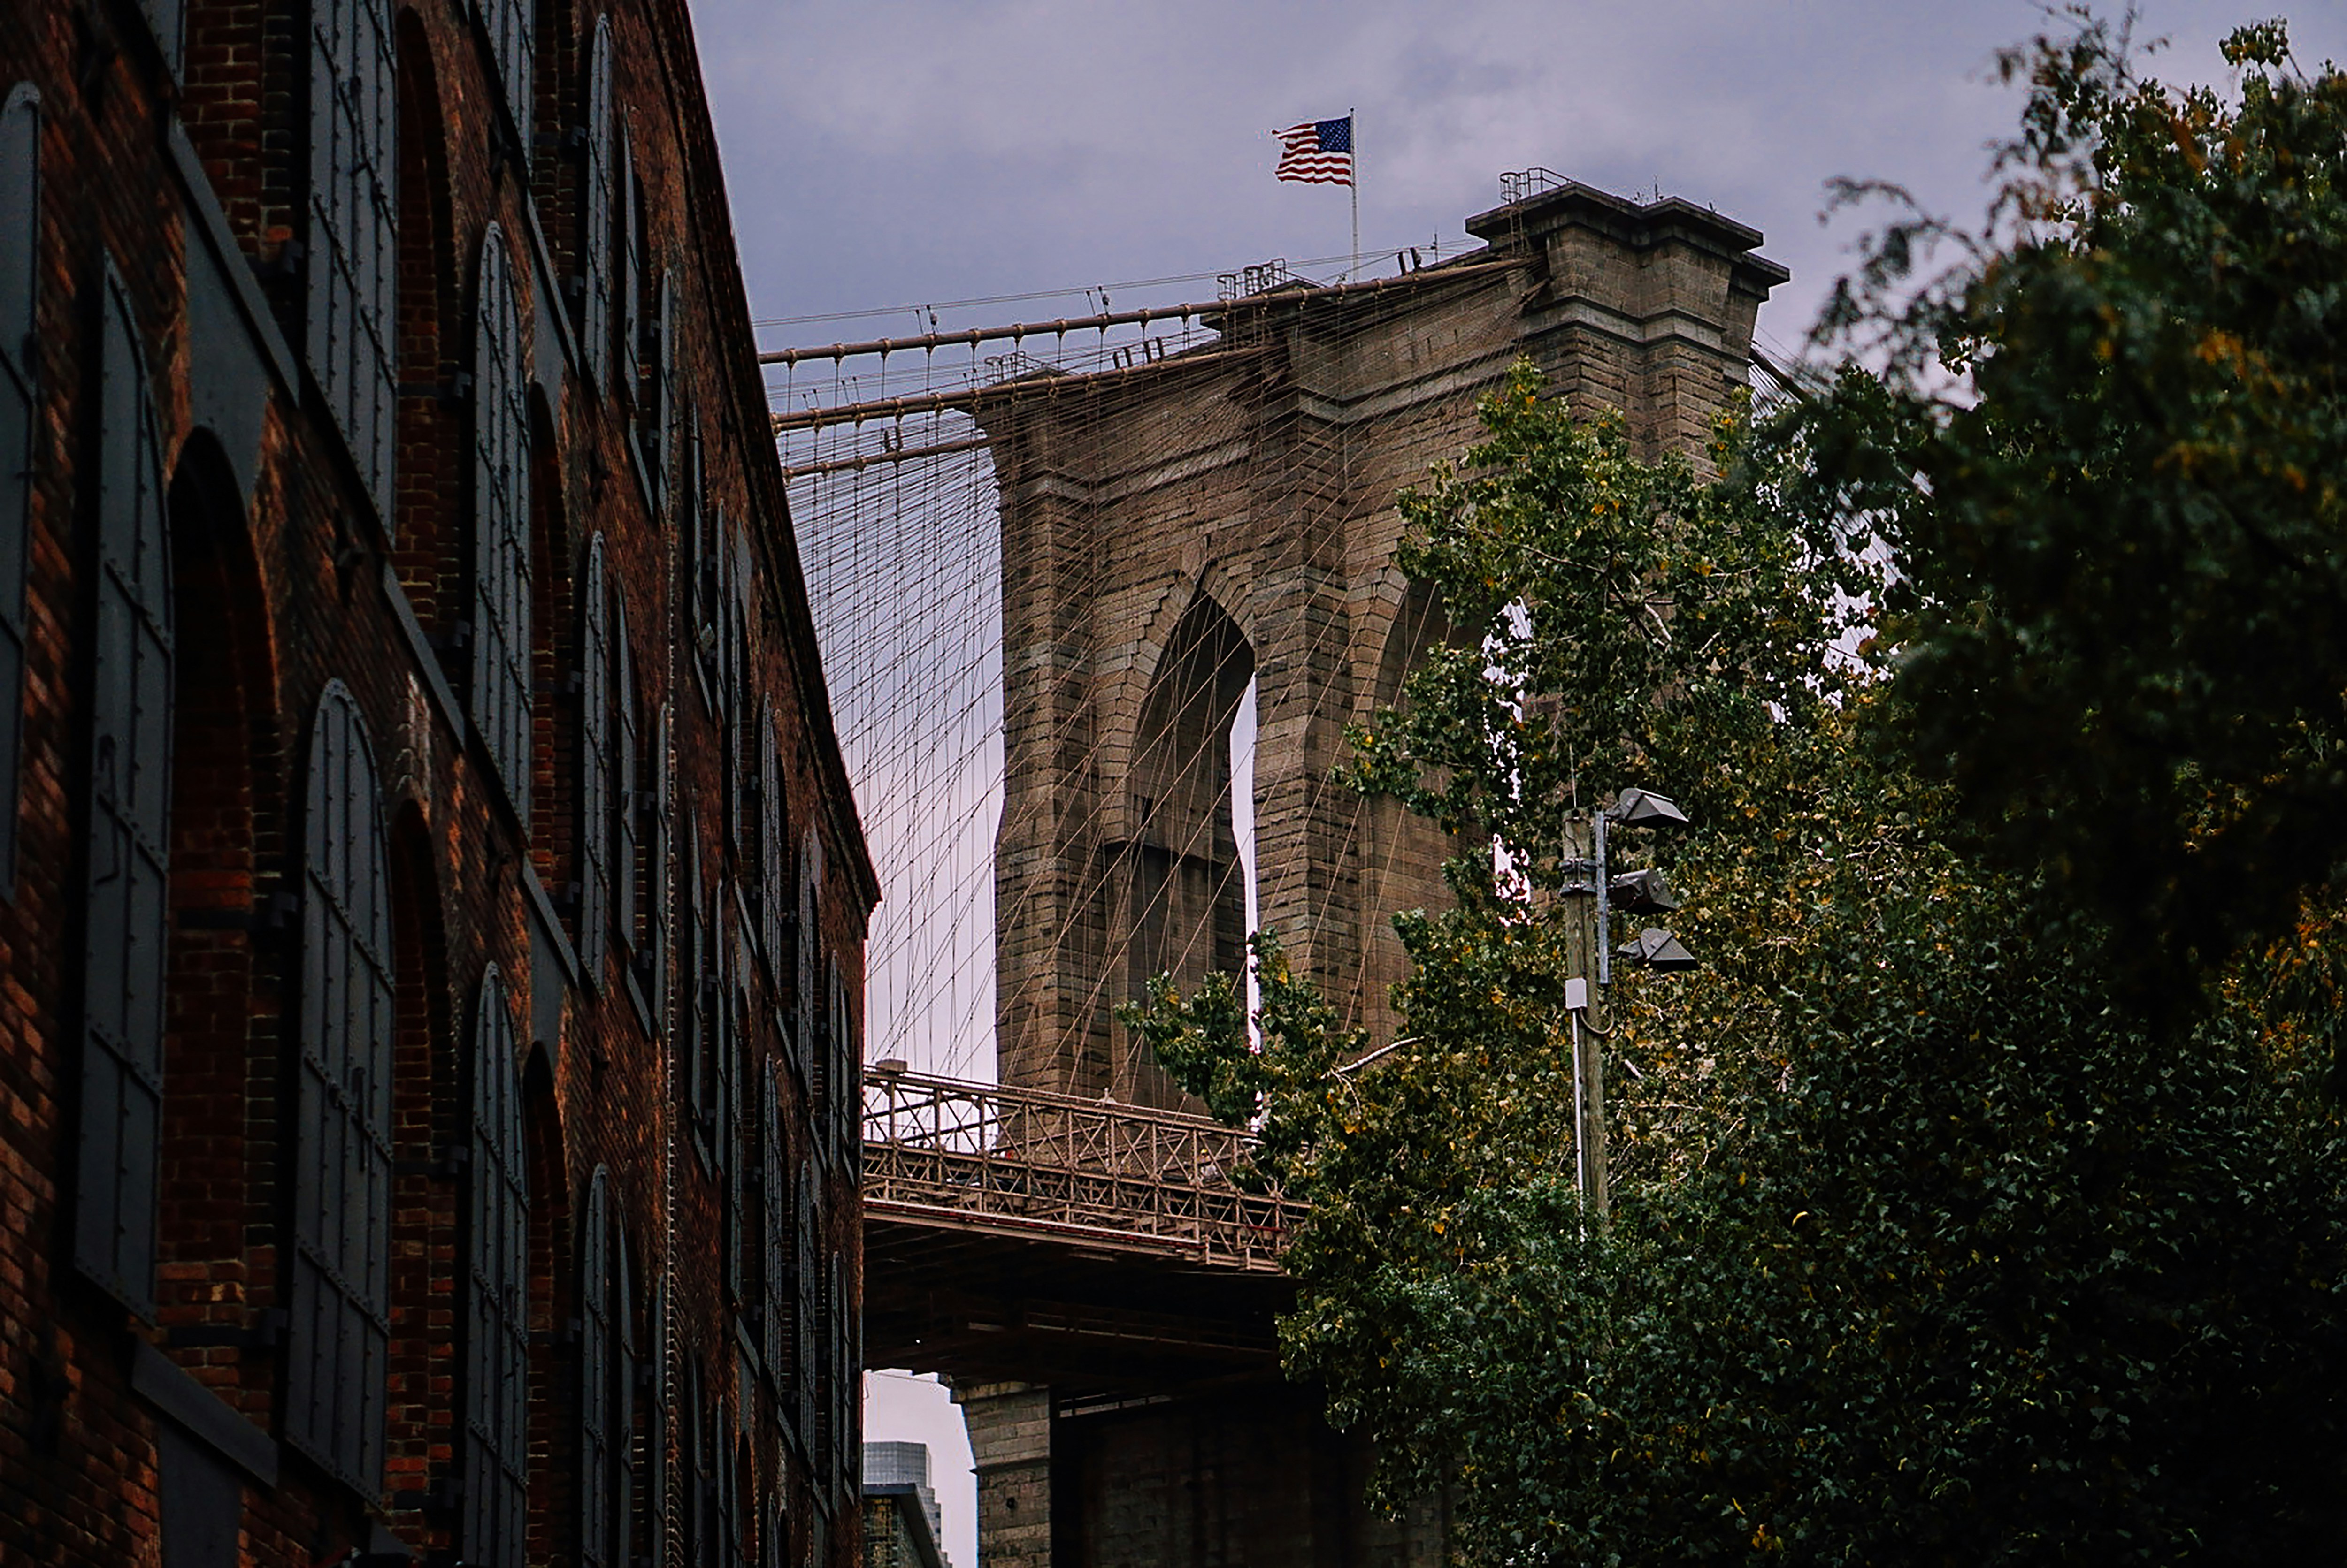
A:
{"type": "Polygon", "coordinates": [[[33,329],[40,319],[40,94],[0,106],[0,885],[16,885],[23,559],[33,528],[33,329]]]}

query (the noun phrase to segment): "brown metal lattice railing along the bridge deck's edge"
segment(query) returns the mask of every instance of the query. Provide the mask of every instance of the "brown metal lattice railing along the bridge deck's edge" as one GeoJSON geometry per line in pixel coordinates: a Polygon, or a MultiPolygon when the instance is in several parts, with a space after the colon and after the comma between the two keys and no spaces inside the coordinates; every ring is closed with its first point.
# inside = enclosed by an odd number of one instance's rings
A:
{"type": "Polygon", "coordinates": [[[1300,1209],[1232,1183],[1246,1143],[1242,1131],[1178,1110],[864,1073],[866,1202],[1270,1270],[1300,1209]]]}

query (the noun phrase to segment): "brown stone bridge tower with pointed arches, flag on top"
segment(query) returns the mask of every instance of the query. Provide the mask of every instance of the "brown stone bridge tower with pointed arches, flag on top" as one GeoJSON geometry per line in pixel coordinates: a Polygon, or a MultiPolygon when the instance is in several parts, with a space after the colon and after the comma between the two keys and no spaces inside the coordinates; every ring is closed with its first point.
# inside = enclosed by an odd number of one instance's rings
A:
{"type": "MultiPolygon", "coordinates": [[[[1396,493],[1476,439],[1474,399],[1526,354],[1648,453],[1699,448],[1786,279],[1756,230],[1683,200],[1554,183],[1467,228],[1483,249],[1455,261],[1272,279],[1209,347],[979,401],[1002,498],[1007,1089],[1185,1108],[1112,1009],[1152,972],[1239,967],[1227,746],[1249,683],[1258,920],[1392,1035],[1387,918],[1443,897],[1448,845],[1328,775],[1443,631],[1394,566],[1396,493]]],[[[1439,1519],[1366,1519],[1366,1455],[1277,1383],[1267,1322],[1230,1329],[1258,1345],[1253,1380],[1220,1366],[1211,1392],[1148,1336],[1075,1380],[962,1373],[988,1566],[1441,1561],[1439,1519]]]]}

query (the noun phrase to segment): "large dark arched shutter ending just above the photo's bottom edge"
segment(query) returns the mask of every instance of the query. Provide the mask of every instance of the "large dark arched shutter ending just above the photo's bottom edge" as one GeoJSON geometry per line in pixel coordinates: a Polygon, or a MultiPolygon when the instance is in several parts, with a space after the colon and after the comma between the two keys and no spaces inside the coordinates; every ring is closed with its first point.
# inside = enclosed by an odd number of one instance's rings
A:
{"type": "Polygon", "coordinates": [[[376,1495],[392,1275],[392,899],[376,753],[340,681],[326,683],[310,732],[300,915],[286,1437],[376,1495]]]}

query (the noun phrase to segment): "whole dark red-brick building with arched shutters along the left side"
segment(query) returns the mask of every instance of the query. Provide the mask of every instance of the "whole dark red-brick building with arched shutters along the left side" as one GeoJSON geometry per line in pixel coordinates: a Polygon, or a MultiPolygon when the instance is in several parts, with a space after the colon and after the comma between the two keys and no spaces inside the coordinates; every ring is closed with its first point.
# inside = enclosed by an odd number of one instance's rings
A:
{"type": "Polygon", "coordinates": [[[0,1561],[854,1561],[728,235],[683,0],[0,7],[0,1561]]]}

